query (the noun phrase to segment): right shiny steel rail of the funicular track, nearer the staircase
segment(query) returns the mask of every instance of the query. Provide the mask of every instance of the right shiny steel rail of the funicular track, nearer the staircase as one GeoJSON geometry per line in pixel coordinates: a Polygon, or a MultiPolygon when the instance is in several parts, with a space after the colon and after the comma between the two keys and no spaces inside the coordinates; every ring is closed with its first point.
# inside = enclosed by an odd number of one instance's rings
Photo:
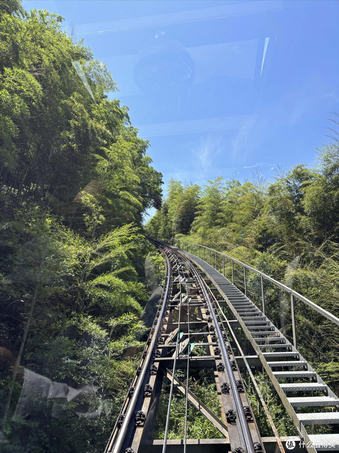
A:
{"type": "MultiPolygon", "coordinates": [[[[210,312],[211,312],[211,315],[213,316],[214,325],[215,325],[215,328],[217,330],[217,336],[220,339],[222,339],[222,333],[221,333],[221,330],[220,330],[220,327],[219,327],[219,323],[217,321],[217,316],[214,313],[214,309],[212,307],[212,301],[211,301],[211,299],[209,297],[207,289],[205,288],[205,282],[202,280],[201,275],[194,268],[194,266],[185,257],[183,257],[183,258],[184,258],[184,260],[186,260],[188,267],[192,271],[192,274],[196,275],[196,278],[197,278],[198,282],[200,283],[202,292],[205,295],[206,300],[207,300],[207,302],[208,302],[208,304],[210,306],[210,312]]],[[[245,417],[244,407],[243,407],[243,404],[241,402],[239,392],[237,390],[235,390],[235,389],[237,389],[237,385],[236,385],[236,382],[235,382],[235,377],[234,377],[234,374],[233,374],[233,370],[231,368],[231,363],[230,363],[229,360],[227,360],[228,353],[226,351],[225,343],[223,341],[220,341],[220,347],[221,347],[223,356],[225,358],[226,368],[227,368],[227,371],[228,371],[228,374],[229,374],[229,377],[230,377],[230,381],[231,381],[230,384],[231,384],[231,388],[233,390],[235,405],[236,405],[236,409],[237,409],[238,416],[239,416],[239,419],[240,419],[240,426],[241,426],[242,434],[244,436],[245,447],[246,447],[248,453],[256,453],[255,450],[254,450],[254,443],[253,443],[252,436],[250,434],[250,429],[248,427],[248,423],[247,423],[247,420],[246,420],[246,417],[245,417]]]]}

